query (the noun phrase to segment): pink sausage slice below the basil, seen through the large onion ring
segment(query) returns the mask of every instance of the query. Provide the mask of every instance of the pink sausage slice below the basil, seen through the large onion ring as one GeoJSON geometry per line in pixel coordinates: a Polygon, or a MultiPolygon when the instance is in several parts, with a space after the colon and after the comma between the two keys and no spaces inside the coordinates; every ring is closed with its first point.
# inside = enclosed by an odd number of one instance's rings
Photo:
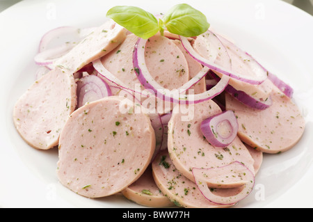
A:
{"type": "MultiPolygon", "coordinates": [[[[109,70],[115,77],[118,77],[125,87],[132,90],[145,90],[137,79],[133,65],[133,51],[138,37],[134,34],[127,35],[125,41],[110,54],[102,58],[104,68],[109,70]]],[[[188,63],[182,51],[172,40],[154,35],[146,45],[146,65],[152,77],[164,88],[179,88],[188,81],[188,63]]],[[[104,79],[105,80],[105,79],[104,79]]],[[[111,82],[108,82],[110,85],[111,82]]],[[[113,94],[120,93],[118,88],[114,88],[113,94]]],[[[172,109],[170,102],[151,95],[147,98],[143,95],[136,95],[143,106],[150,108],[154,113],[168,113],[172,109]],[[152,105],[153,104],[153,105],[152,105]]]]}

